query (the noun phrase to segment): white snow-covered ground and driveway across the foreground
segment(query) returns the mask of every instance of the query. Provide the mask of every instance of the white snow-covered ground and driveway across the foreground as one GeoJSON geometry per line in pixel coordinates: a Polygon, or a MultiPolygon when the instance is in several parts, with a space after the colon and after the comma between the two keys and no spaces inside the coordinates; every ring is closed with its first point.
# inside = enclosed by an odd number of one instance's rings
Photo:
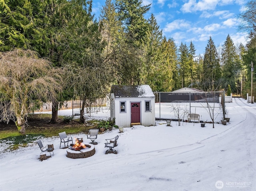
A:
{"type": "MultiPolygon", "coordinates": [[[[166,126],[162,120],[156,126],[99,134],[96,153],[84,159],[67,158],[66,149],[59,149],[59,137],[42,139],[55,148],[54,156],[44,161],[38,160],[36,142],[10,152],[1,146],[0,190],[255,191],[256,104],[233,98],[226,108],[230,117],[226,126],[202,128],[200,123],[186,122],[166,126]],[[106,155],[105,139],[116,135],[118,154],[106,155]]],[[[105,111],[94,117],[109,116],[105,111]]],[[[85,134],[75,136],[90,142],[85,134]]]]}

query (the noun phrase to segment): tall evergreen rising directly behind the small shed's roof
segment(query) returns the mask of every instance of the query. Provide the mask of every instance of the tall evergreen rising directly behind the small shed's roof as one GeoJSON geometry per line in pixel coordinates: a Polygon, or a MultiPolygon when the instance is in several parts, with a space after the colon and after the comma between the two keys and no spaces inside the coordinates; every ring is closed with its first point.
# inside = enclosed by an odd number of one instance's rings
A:
{"type": "Polygon", "coordinates": [[[144,18],[150,5],[142,6],[142,0],[116,0],[118,20],[122,23],[124,35],[118,41],[120,57],[120,83],[140,84],[146,71],[143,44],[147,41],[149,24],[144,18]]]}

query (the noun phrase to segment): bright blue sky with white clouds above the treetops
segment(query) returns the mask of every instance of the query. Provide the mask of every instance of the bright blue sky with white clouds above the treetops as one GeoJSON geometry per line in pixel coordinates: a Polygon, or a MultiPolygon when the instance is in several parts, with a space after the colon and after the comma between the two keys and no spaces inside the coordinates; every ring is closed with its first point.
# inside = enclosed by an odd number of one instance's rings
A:
{"type": "MultiPolygon", "coordinates": [[[[244,10],[247,0],[143,0],[151,4],[148,19],[154,14],[163,35],[196,48],[196,54],[204,54],[207,41],[212,37],[217,49],[229,34],[234,44],[246,44],[247,33],[238,31],[238,14],[244,10]]],[[[105,0],[93,0],[92,12],[98,19],[105,0]]]]}

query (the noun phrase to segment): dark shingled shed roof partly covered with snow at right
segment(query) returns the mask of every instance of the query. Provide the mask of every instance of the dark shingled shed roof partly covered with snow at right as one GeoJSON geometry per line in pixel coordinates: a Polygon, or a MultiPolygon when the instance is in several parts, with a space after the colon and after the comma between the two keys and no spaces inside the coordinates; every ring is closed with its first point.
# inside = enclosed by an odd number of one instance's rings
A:
{"type": "Polygon", "coordinates": [[[149,85],[112,85],[111,93],[115,97],[154,97],[149,85]]]}

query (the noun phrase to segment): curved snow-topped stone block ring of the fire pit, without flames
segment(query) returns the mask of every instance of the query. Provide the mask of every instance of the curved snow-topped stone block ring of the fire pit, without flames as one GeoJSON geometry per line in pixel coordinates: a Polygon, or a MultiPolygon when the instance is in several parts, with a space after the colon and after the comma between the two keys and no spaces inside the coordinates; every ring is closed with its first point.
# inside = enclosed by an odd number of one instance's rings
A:
{"type": "Polygon", "coordinates": [[[95,147],[92,144],[85,144],[86,148],[81,149],[80,151],[67,149],[67,157],[72,159],[77,158],[88,158],[95,154],[95,147]]]}

